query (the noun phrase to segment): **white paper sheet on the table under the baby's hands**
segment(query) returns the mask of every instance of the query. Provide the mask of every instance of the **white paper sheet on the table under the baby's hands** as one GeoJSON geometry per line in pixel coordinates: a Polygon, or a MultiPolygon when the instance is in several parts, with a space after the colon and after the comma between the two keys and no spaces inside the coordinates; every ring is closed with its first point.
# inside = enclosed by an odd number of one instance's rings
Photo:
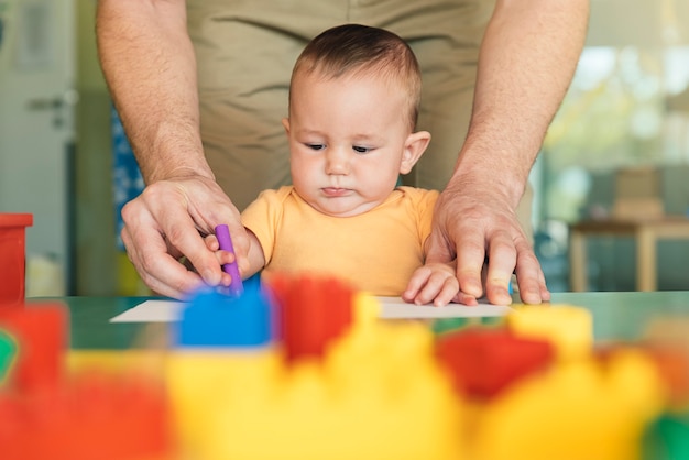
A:
{"type": "MultiPolygon", "coordinates": [[[[504,316],[511,308],[479,303],[477,306],[450,304],[445,307],[407,304],[401,297],[376,297],[382,305],[381,318],[472,318],[504,316]]],[[[145,300],[113,317],[110,322],[172,322],[177,321],[187,304],[175,300],[145,300]]]]}

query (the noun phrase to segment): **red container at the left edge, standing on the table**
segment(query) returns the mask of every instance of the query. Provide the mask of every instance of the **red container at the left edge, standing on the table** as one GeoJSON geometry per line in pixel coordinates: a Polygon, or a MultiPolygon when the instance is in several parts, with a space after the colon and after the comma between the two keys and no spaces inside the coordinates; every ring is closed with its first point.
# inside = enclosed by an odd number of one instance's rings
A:
{"type": "Polygon", "coordinates": [[[24,302],[25,228],[33,215],[0,212],[0,305],[24,302]]]}

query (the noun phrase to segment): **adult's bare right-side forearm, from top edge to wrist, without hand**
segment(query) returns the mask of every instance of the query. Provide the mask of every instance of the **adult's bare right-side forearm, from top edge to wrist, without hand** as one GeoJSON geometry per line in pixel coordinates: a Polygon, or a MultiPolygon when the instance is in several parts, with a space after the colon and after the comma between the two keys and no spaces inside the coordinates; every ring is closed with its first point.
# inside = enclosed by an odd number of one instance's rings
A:
{"type": "Polygon", "coordinates": [[[588,15],[588,0],[497,0],[456,176],[481,177],[516,206],[573,76],[588,15]]]}

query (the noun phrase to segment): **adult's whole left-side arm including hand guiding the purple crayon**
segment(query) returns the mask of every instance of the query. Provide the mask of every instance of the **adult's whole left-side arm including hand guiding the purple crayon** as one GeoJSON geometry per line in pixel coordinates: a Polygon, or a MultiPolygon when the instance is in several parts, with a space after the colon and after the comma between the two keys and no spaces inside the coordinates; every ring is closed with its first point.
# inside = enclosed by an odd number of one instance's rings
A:
{"type": "Polygon", "coordinates": [[[227,223],[240,265],[248,240],[239,212],[204,156],[196,59],[184,0],[100,0],[101,67],[146,183],[122,210],[122,239],[142,280],[183,297],[222,272],[200,233],[227,223]],[[177,259],[185,255],[188,271],[177,259]]]}

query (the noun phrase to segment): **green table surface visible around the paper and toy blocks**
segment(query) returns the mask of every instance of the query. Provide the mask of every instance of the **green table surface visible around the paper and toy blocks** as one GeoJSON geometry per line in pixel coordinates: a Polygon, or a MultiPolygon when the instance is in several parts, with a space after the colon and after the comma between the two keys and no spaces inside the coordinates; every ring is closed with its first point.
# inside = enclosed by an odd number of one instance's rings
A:
{"type": "MultiPolygon", "coordinates": [[[[59,297],[33,298],[26,303],[59,302],[68,307],[73,350],[123,350],[165,346],[168,324],[109,322],[110,318],[150,298],[59,297]]],[[[689,318],[689,291],[554,293],[551,304],[589,309],[598,341],[635,340],[643,337],[652,321],[670,319],[679,324],[678,318],[689,318]]],[[[452,320],[436,320],[436,325],[437,321],[452,320]]]]}

